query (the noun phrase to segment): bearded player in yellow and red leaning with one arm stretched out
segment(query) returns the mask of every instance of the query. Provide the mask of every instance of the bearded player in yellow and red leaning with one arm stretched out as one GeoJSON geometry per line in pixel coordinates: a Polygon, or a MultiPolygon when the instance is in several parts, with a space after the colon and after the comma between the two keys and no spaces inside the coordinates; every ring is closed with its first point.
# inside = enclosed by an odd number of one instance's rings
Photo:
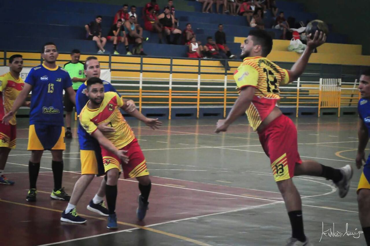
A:
{"type": "MultiPolygon", "coordinates": [[[[87,80],[86,94],[90,100],[81,110],[80,123],[86,132],[95,137],[101,145],[101,154],[107,175],[107,185],[105,186],[109,210],[107,228],[117,229],[115,204],[120,165],[122,164],[125,179],[135,177],[139,181],[141,192],[138,197],[139,206],[137,209],[139,220],[144,219],[148,209],[148,197],[151,189],[149,172],[137,139],[119,110],[119,108],[126,110],[127,104],[115,92],[104,93],[102,80],[95,77],[87,80]],[[103,135],[97,125],[105,123],[113,127],[115,132],[103,135]]],[[[129,114],[152,129],[157,129],[157,126],[162,124],[158,119],[145,117],[136,109],[129,114]]]]}

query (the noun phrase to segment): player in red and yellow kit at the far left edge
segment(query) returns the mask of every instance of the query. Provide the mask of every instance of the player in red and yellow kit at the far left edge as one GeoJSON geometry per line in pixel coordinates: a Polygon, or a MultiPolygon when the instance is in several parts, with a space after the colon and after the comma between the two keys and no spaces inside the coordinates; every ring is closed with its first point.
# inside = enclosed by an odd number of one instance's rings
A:
{"type": "MultiPolygon", "coordinates": [[[[23,89],[24,82],[19,77],[23,69],[23,59],[19,54],[9,57],[9,72],[0,76],[0,119],[8,113],[20,91],[23,89]]],[[[29,107],[26,102],[23,106],[29,107]]],[[[0,123],[0,184],[13,185],[14,181],[7,179],[3,172],[8,155],[11,149],[16,147],[17,122],[14,115],[10,124],[0,123]]]]}

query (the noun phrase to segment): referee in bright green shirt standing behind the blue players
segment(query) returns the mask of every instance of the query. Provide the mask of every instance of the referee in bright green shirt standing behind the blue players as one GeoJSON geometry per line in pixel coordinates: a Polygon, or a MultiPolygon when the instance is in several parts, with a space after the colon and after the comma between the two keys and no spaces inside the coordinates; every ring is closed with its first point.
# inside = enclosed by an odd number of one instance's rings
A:
{"type": "MultiPolygon", "coordinates": [[[[72,50],[71,61],[64,64],[63,68],[67,70],[72,79],[72,88],[77,92],[78,87],[85,82],[84,73],[84,63],[80,62],[81,52],[80,50],[72,50]]],[[[71,121],[72,121],[72,111],[74,104],[71,102],[68,93],[64,94],[64,111],[65,111],[65,126],[67,130],[65,131],[65,138],[72,138],[71,132],[71,121]]]]}

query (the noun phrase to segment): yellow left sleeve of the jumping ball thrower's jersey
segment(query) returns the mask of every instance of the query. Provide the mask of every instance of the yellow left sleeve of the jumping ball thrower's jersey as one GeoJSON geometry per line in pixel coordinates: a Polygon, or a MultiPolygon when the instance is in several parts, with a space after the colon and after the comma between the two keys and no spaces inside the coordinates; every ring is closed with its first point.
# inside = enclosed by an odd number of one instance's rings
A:
{"type": "Polygon", "coordinates": [[[234,79],[238,90],[246,86],[257,87],[258,84],[258,71],[250,65],[243,65],[238,68],[234,74],[234,79]]]}

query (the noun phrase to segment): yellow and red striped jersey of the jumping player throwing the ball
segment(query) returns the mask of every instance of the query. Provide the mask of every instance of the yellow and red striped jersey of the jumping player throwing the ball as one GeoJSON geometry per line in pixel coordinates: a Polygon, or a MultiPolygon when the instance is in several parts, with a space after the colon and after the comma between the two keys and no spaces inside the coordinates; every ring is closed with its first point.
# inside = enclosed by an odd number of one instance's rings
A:
{"type": "Polygon", "coordinates": [[[250,126],[257,130],[277,105],[280,99],[279,85],[289,82],[289,74],[266,57],[257,56],[245,58],[235,71],[234,79],[239,91],[246,86],[256,88],[246,114],[250,126]]]}

